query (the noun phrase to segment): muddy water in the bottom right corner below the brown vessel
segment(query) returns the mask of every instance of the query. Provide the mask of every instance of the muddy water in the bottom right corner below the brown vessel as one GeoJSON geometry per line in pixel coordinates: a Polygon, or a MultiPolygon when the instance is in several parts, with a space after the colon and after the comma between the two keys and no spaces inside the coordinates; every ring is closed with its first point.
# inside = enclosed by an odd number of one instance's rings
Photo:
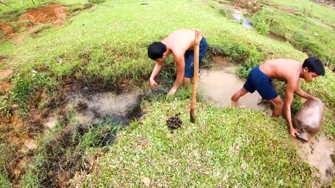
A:
{"type": "Polygon", "coordinates": [[[320,177],[321,185],[331,183],[335,176],[335,142],[329,141],[325,136],[312,136],[309,143],[302,143],[292,139],[292,145],[297,148],[297,154],[304,162],[318,169],[313,174],[320,177]]]}

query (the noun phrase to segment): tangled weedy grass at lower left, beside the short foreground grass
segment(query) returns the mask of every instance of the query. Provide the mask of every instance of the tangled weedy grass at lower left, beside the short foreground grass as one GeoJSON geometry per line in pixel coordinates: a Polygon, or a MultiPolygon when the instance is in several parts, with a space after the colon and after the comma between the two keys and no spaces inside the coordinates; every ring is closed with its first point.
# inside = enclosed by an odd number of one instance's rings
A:
{"type": "Polygon", "coordinates": [[[89,171],[97,153],[106,151],[105,146],[113,143],[122,128],[111,118],[80,125],[76,117],[75,111],[68,113],[67,120],[60,121],[58,128],[40,136],[40,146],[33,156],[36,162],[27,165],[22,187],[66,186],[68,178],[61,178],[73,177],[77,171],[89,171]]]}

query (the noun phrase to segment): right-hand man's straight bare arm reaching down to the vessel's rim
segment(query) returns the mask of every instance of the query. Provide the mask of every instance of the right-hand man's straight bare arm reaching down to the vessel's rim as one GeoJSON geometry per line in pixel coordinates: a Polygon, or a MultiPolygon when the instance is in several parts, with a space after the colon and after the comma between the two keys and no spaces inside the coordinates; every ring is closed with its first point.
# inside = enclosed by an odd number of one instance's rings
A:
{"type": "Polygon", "coordinates": [[[288,127],[290,128],[290,134],[291,136],[295,136],[297,133],[297,130],[293,128],[292,125],[292,119],[291,119],[291,104],[293,100],[293,93],[295,92],[295,88],[297,87],[297,84],[295,82],[288,82],[288,85],[286,86],[285,91],[285,102],[284,102],[284,113],[286,120],[288,121],[288,127]]]}

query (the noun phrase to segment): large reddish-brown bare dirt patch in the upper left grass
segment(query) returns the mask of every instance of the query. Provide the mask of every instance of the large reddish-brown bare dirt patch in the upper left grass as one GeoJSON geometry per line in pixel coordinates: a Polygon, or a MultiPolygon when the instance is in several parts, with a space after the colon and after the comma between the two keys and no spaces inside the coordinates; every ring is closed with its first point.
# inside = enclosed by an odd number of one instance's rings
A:
{"type": "Polygon", "coordinates": [[[61,25],[66,20],[66,8],[61,5],[46,5],[39,8],[29,8],[20,20],[29,20],[31,23],[51,23],[61,25]]]}

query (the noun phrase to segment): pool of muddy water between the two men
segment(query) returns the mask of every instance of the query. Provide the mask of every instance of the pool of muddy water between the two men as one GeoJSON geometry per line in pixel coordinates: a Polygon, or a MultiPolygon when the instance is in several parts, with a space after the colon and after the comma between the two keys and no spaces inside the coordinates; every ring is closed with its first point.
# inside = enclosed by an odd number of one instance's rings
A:
{"type": "Polygon", "coordinates": [[[207,102],[216,107],[247,107],[271,113],[270,107],[262,102],[262,97],[257,91],[247,93],[238,102],[232,102],[232,95],[241,89],[244,80],[235,75],[232,63],[223,59],[214,61],[218,62],[214,68],[201,70],[199,79],[199,90],[204,93],[207,102]]]}

